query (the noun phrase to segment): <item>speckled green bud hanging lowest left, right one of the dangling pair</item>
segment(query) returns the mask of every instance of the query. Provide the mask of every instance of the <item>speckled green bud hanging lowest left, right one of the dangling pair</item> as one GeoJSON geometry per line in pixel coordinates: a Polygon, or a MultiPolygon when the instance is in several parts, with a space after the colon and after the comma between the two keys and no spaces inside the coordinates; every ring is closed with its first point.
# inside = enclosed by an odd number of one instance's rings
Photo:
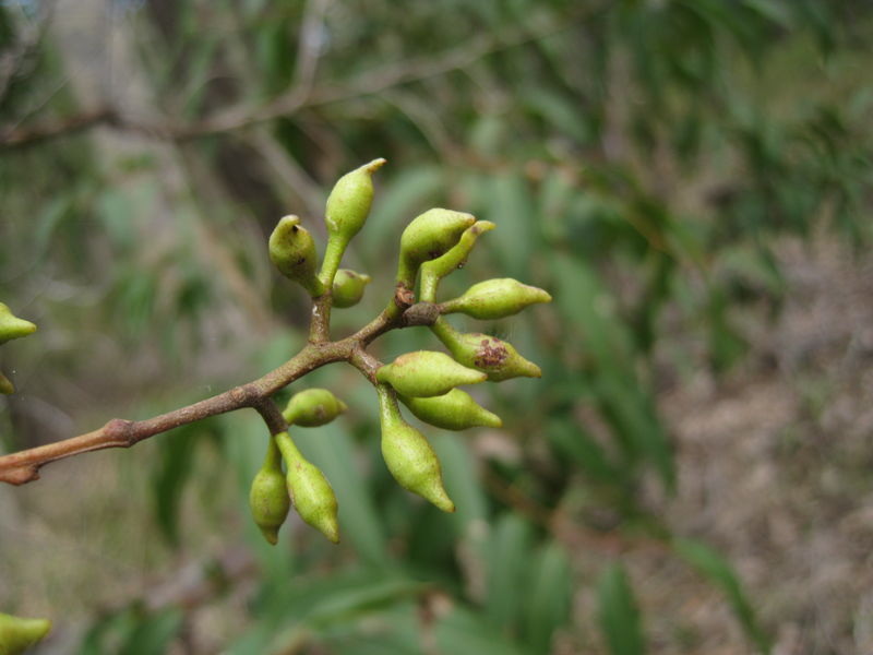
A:
{"type": "Polygon", "coordinates": [[[318,466],[307,461],[288,432],[276,434],[276,443],[288,467],[287,484],[291,502],[300,517],[334,544],[339,541],[336,496],[318,466]]]}

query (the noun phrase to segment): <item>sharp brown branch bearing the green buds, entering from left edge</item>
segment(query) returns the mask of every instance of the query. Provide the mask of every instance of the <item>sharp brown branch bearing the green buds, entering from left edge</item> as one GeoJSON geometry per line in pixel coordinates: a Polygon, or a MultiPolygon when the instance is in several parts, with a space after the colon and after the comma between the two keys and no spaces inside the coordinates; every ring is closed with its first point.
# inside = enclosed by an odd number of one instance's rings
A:
{"type": "MultiPolygon", "coordinates": [[[[330,320],[330,294],[325,294],[313,303],[313,308],[321,305],[322,308],[328,309],[326,313],[313,311],[312,315],[313,329],[315,323],[319,323],[320,327],[315,332],[321,334],[323,331],[325,335],[330,320]]],[[[325,336],[325,341],[310,343],[295,357],[258,380],[235,386],[193,405],[144,420],[132,421],[113,418],[97,430],[0,456],[0,483],[24,485],[38,479],[39,469],[50,462],[109,448],[130,448],[144,439],[174,428],[244,407],[256,409],[271,433],[282,432],[288,426],[278,407],[271,400],[271,396],[278,390],[316,368],[335,361],[348,361],[360,369],[368,379],[374,381],[375,367],[379,364],[364,352],[364,348],[374,338],[390,330],[430,324],[439,315],[439,311],[434,311],[436,306],[418,303],[409,307],[406,296],[399,293],[395,297],[394,306],[400,311],[396,313],[383,311],[368,325],[342,341],[326,341],[325,336]],[[422,306],[431,309],[422,309],[422,306]],[[409,312],[411,313],[407,315],[409,312]],[[430,323],[422,322],[422,320],[427,320],[422,319],[422,315],[430,317],[430,323]]]]}

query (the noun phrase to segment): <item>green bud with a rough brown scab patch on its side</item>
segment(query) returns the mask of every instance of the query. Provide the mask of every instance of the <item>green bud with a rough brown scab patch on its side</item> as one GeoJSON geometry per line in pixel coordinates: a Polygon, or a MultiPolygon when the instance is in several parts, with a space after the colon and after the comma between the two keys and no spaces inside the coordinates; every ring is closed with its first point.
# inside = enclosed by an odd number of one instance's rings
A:
{"type": "Polygon", "coordinates": [[[510,378],[541,378],[542,371],[512,346],[495,336],[481,333],[461,333],[442,317],[431,326],[446,348],[464,366],[488,373],[492,382],[510,378]]]}

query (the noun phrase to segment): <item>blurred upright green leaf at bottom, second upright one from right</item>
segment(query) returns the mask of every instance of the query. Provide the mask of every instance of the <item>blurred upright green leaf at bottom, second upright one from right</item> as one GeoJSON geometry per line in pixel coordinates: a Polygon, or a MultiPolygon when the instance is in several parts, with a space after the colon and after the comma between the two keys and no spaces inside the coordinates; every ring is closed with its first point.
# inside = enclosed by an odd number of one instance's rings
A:
{"type": "Polygon", "coordinates": [[[555,630],[570,619],[573,572],[564,549],[542,546],[529,567],[525,586],[524,634],[534,653],[550,653],[555,630]]]}

